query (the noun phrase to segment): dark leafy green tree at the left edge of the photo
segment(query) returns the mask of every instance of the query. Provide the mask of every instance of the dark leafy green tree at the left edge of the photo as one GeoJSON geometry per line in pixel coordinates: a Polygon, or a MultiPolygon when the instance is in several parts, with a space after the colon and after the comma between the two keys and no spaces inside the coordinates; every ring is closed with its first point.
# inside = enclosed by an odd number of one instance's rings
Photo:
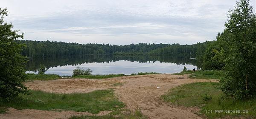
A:
{"type": "Polygon", "coordinates": [[[21,83],[25,81],[24,64],[26,57],[20,55],[24,45],[14,42],[18,38],[19,30],[12,31],[12,24],[3,20],[7,16],[7,10],[0,8],[0,99],[11,100],[18,94],[27,92],[27,88],[21,83]]]}

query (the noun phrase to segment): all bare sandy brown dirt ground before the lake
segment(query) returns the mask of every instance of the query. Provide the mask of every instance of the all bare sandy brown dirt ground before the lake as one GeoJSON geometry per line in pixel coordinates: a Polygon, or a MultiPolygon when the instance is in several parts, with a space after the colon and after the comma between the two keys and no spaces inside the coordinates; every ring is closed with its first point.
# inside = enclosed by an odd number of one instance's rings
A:
{"type": "MultiPolygon", "coordinates": [[[[128,109],[134,111],[139,108],[148,119],[201,119],[201,117],[194,114],[199,111],[198,108],[185,108],[170,105],[169,103],[163,102],[160,98],[160,96],[166,93],[170,88],[192,82],[217,82],[217,80],[189,79],[186,75],[154,74],[101,80],[58,79],[51,81],[34,81],[26,82],[25,85],[33,90],[66,94],[75,92],[87,93],[94,90],[113,88],[115,89],[116,96],[127,105],[128,109]]],[[[31,117],[37,119],[55,119],[68,118],[72,115],[79,114],[81,113],[72,111],[54,113],[52,111],[31,109],[17,111],[11,108],[7,114],[0,114],[0,118],[9,117],[8,119],[22,119],[21,117],[24,117],[23,119],[26,119],[31,117]],[[25,113],[26,111],[36,112],[27,114],[25,113]],[[19,118],[16,118],[17,113],[19,118]]],[[[106,114],[106,112],[102,112],[101,114],[106,114]]],[[[90,115],[90,113],[87,113],[87,115],[90,115]]]]}

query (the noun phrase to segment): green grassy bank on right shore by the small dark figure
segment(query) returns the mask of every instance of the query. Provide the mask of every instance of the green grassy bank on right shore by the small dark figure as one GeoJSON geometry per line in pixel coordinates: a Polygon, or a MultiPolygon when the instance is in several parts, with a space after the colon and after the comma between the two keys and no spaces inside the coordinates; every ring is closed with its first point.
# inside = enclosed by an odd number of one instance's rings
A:
{"type": "Polygon", "coordinates": [[[186,70],[182,71],[180,73],[175,73],[175,75],[184,75],[184,74],[191,74],[189,75],[192,79],[220,79],[222,75],[222,71],[219,70],[198,70],[198,71],[192,71],[192,70],[186,70]]]}

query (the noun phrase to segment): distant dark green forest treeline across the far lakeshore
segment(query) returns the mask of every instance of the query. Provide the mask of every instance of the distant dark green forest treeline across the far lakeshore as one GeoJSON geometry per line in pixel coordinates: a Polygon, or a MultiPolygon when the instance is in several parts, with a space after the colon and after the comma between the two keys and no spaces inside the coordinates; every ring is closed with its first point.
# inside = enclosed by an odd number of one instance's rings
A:
{"type": "Polygon", "coordinates": [[[28,57],[59,57],[59,56],[81,56],[88,54],[157,54],[172,55],[175,57],[201,58],[208,44],[213,41],[196,43],[193,45],[180,44],[79,44],[53,41],[15,40],[19,44],[26,44],[22,54],[28,57]]]}

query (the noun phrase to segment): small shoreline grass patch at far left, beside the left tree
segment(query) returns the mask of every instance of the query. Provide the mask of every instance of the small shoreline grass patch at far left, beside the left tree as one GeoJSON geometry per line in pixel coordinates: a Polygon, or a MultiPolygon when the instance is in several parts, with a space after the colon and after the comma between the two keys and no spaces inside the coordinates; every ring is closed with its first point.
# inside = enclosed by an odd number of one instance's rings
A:
{"type": "Polygon", "coordinates": [[[57,74],[26,74],[28,80],[51,80],[61,79],[62,77],[57,74]]]}

